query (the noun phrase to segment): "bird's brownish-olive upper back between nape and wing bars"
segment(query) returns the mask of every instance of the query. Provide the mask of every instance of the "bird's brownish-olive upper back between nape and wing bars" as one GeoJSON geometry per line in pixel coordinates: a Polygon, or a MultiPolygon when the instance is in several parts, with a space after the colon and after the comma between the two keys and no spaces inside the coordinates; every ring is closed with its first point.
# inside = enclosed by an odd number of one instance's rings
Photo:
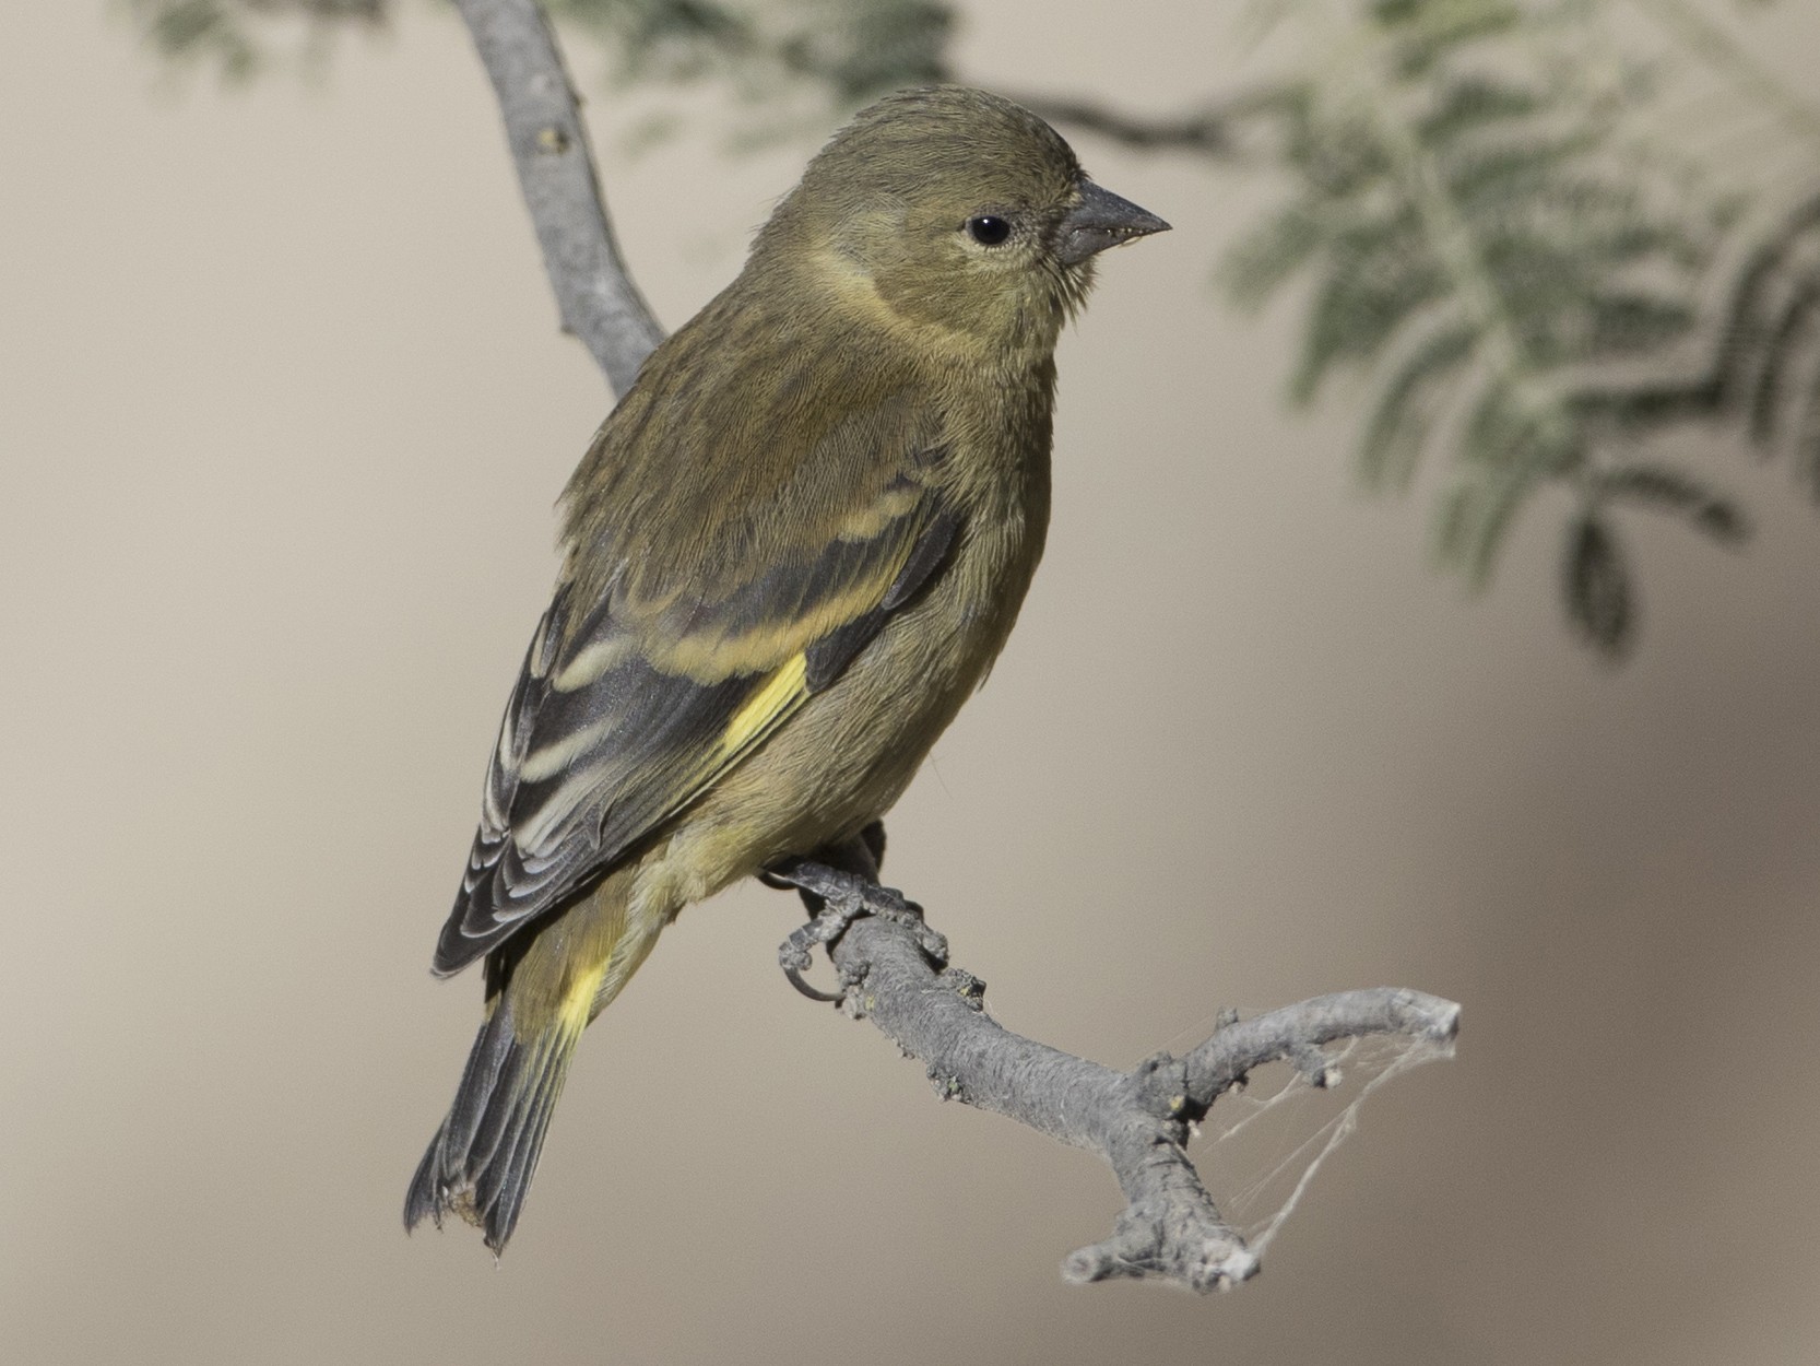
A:
{"type": "Polygon", "coordinates": [[[715,601],[923,523],[948,408],[855,310],[728,290],[595,435],[562,497],[564,577],[579,601],[715,601]]]}

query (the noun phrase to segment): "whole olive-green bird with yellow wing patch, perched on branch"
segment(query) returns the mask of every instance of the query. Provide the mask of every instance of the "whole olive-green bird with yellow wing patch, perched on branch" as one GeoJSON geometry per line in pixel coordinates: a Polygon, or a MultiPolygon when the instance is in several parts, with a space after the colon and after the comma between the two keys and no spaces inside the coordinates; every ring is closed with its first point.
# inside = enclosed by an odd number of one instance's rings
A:
{"type": "Polygon", "coordinates": [[[985,679],[1048,525],[1056,335],[1165,229],[1041,118],[892,95],[810,162],[562,494],[435,971],[486,1018],[411,1180],[504,1248],[570,1056],[692,902],[854,840],[985,679]]]}

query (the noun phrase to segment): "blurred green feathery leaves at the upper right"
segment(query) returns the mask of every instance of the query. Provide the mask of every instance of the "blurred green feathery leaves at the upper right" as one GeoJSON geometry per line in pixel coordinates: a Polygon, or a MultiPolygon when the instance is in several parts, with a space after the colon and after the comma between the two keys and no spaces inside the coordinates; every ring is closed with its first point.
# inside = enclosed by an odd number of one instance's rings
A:
{"type": "Polygon", "coordinates": [[[1290,397],[1363,381],[1367,486],[1451,457],[1436,546],[1474,585],[1516,514],[1565,494],[1569,621],[1622,654],[1636,590],[1616,512],[1747,534],[1663,455],[1687,444],[1669,433],[1725,450],[1727,424],[1774,408],[1751,435],[1793,421],[1820,494],[1820,273],[1805,213],[1774,202],[1820,182],[1820,120],[1682,0],[1287,0],[1274,18],[1303,29],[1270,111],[1292,193],[1228,253],[1228,293],[1299,288],[1290,397]]]}

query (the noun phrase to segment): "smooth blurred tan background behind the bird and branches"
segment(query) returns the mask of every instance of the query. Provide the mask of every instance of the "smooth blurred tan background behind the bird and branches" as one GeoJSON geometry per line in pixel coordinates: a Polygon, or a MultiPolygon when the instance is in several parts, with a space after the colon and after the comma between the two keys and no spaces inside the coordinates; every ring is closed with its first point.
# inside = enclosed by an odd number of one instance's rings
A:
{"type": "MultiPolygon", "coordinates": [[[[1292,321],[1207,288],[1232,180],[1077,138],[1176,231],[1063,344],[1050,557],[892,820],[1010,1027],[1128,1065],[1398,984],[1465,1004],[1241,1293],[1068,1288],[1107,1173],[937,1104],[688,914],[590,1035],[504,1264],[406,1239],[473,976],[428,958],[550,514],[606,408],[491,102],[411,11],[317,84],[173,87],[96,5],[0,46],[0,1341],[51,1362],[1820,1361],[1820,525],[1640,525],[1620,672],[1556,521],[1465,601],[1292,321]]],[[[1789,7],[1785,51],[1820,18],[1789,7]]],[[[965,69],[1170,107],[1221,5],[977,7],[965,69]]],[[[668,324],[812,149],[632,158],[668,324]]],[[[1250,1173],[1207,1175],[1219,1193],[1250,1173]]]]}

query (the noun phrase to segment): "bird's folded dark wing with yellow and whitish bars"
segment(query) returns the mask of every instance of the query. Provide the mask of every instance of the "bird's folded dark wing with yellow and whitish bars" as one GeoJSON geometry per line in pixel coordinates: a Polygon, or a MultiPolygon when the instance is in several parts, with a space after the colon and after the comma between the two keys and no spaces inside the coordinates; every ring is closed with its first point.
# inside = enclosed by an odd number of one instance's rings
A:
{"type": "Polygon", "coordinates": [[[650,521],[608,528],[622,545],[604,556],[606,590],[590,601],[566,576],[506,705],[437,973],[610,869],[832,685],[935,574],[959,532],[932,479],[943,454],[901,403],[885,408],[790,463],[761,499],[783,506],[748,503],[668,541],[650,521]],[[650,572],[659,543],[666,574],[650,572]]]}

